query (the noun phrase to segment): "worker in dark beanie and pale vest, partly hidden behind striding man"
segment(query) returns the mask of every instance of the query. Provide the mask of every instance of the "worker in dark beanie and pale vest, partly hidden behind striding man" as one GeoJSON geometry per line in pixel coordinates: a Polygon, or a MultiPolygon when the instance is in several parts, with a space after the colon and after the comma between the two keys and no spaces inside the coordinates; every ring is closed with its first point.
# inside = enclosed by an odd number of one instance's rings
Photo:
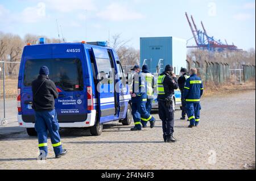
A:
{"type": "MultiPolygon", "coordinates": [[[[154,75],[152,75],[148,69],[148,65],[142,66],[142,74],[146,78],[147,84],[147,103],[146,103],[146,110],[148,113],[151,113],[152,110],[152,102],[154,100],[154,91],[156,89],[156,81],[154,75]]],[[[147,127],[148,121],[141,121],[143,128],[147,127]]]]}

